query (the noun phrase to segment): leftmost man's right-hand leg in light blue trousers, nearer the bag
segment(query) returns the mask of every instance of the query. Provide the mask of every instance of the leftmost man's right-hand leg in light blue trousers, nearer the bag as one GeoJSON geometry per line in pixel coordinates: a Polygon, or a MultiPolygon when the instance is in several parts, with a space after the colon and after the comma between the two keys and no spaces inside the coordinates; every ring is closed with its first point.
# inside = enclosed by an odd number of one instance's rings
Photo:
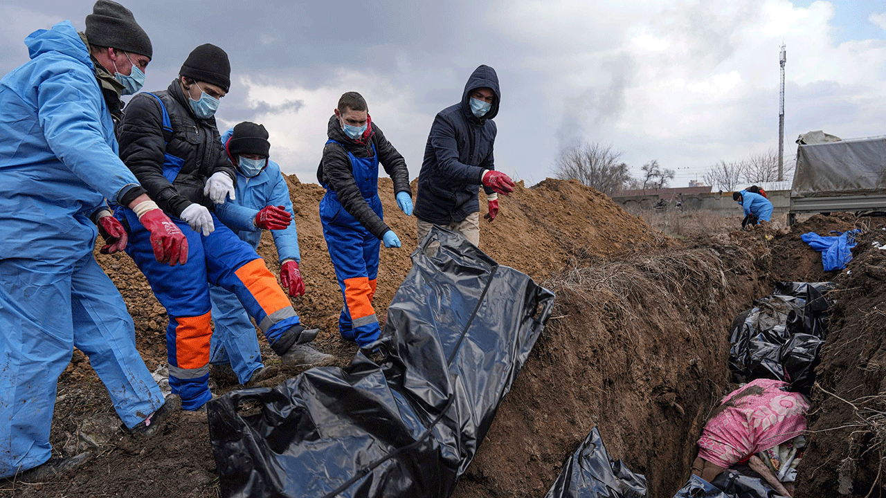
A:
{"type": "Polygon", "coordinates": [[[71,280],[74,346],[107,388],[128,428],[163,405],[163,393],[136,349],[136,330],[120,292],[92,254],[78,261],[71,280]]]}

